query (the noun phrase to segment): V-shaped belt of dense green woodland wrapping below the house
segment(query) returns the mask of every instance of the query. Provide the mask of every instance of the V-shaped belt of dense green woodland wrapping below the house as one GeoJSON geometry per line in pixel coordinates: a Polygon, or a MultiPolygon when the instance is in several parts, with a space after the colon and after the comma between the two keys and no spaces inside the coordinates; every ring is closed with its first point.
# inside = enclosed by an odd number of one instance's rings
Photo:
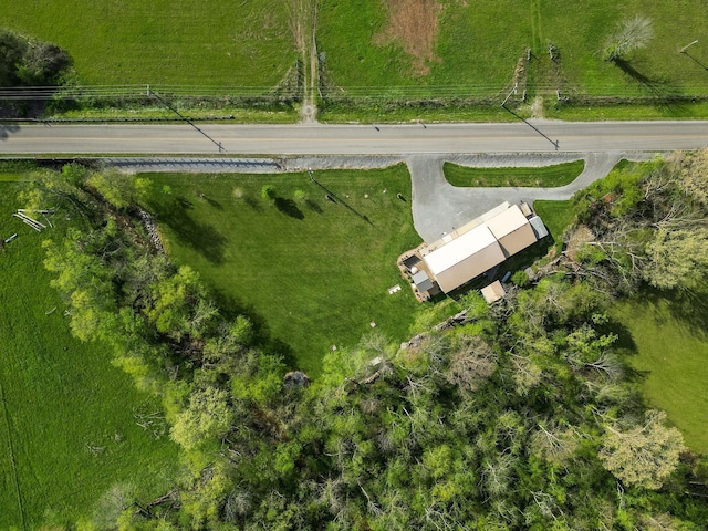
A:
{"type": "Polygon", "coordinates": [[[45,243],[72,330],[164,397],[186,466],[175,494],[121,497],[114,523],[87,528],[700,529],[708,467],[645,410],[605,313],[617,279],[655,278],[671,206],[702,212],[705,188],[667,177],[704,164],[686,157],[579,197],[592,237],[539,281],[493,306],[470,293],[466,323],[402,347],[374,332],[329,352],[310,385],[283,384],[278,346],[150,247],[134,205],[149,184],[38,179],[28,200],[83,220],[45,243]]]}

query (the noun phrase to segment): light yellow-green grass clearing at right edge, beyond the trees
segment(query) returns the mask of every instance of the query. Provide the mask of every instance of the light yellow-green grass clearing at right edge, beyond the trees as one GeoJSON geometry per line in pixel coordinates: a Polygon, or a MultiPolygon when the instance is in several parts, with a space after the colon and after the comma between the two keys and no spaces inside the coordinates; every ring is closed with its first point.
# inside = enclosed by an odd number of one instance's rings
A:
{"type": "Polygon", "coordinates": [[[708,452],[708,306],[696,298],[642,293],[612,315],[636,345],[628,361],[647,404],[665,409],[686,445],[708,452]]]}

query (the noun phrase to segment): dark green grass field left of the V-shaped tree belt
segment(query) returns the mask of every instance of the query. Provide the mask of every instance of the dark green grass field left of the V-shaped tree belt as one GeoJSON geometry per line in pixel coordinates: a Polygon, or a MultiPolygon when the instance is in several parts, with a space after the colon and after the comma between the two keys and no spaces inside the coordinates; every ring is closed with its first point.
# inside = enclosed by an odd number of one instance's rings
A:
{"type": "Polygon", "coordinates": [[[71,336],[42,266],[42,240],[61,229],[40,235],[11,217],[20,186],[0,181],[0,237],[19,235],[0,251],[0,529],[64,529],[115,510],[102,502],[115,486],[164,494],[178,451],[167,433],[136,425],[134,414],[160,412],[159,402],[101,344],[71,336]]]}

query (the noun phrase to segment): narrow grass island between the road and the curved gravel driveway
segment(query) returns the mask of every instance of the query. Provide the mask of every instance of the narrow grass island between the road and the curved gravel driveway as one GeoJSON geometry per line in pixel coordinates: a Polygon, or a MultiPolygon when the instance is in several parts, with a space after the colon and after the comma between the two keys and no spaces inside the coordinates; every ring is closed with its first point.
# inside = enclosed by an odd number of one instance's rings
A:
{"type": "Polygon", "coordinates": [[[540,166],[538,168],[471,168],[445,163],[445,178],[452,186],[465,187],[544,187],[570,185],[585,168],[584,160],[540,166]]]}

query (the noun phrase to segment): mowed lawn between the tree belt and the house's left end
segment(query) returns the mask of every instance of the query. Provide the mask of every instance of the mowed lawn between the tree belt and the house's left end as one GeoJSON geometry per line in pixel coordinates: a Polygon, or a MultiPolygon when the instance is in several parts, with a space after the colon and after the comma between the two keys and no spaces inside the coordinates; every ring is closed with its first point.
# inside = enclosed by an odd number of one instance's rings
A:
{"type": "Polygon", "coordinates": [[[171,260],[195,268],[227,305],[264,323],[291,350],[289,364],[311,376],[332,345],[353,346],[372,332],[407,339],[420,308],[396,267],[420,243],[407,168],[314,177],[336,202],[306,173],[153,174],[149,201],[171,260]],[[274,205],[261,198],[269,184],[274,205]],[[295,202],[296,190],[308,200],[295,202]],[[396,284],[402,290],[388,294],[396,284]]]}

